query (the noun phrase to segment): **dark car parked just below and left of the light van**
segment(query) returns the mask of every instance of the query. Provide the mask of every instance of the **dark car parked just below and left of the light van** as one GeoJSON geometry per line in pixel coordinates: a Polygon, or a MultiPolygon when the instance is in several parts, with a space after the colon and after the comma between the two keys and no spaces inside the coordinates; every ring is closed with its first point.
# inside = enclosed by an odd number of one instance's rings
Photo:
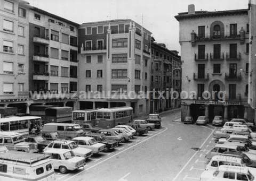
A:
{"type": "Polygon", "coordinates": [[[46,140],[42,135],[29,134],[24,137],[25,137],[25,142],[37,144],[38,152],[43,152],[44,148],[51,142],[49,140],[46,140]]]}

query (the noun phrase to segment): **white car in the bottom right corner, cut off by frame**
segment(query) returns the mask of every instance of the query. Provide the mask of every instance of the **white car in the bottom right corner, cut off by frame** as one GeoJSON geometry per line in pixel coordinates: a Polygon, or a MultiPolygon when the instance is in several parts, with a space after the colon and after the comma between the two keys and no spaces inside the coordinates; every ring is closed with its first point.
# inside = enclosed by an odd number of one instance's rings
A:
{"type": "Polygon", "coordinates": [[[217,170],[205,170],[200,181],[228,181],[228,180],[250,180],[255,181],[248,167],[221,165],[217,170]]]}

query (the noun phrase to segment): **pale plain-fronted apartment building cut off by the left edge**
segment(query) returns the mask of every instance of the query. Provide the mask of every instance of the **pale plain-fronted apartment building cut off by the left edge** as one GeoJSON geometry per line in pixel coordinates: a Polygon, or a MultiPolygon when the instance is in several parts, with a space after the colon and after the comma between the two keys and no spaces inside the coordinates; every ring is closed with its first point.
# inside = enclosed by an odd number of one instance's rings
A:
{"type": "Polygon", "coordinates": [[[28,101],[28,14],[26,3],[0,1],[0,106],[26,111],[28,101]]]}

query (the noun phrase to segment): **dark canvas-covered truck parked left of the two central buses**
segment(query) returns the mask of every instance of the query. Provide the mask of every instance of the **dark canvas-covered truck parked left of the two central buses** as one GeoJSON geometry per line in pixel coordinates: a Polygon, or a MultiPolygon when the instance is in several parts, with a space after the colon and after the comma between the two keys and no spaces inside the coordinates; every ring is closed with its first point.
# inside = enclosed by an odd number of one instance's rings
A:
{"type": "Polygon", "coordinates": [[[50,107],[45,109],[45,123],[71,123],[72,107],[50,107]]]}

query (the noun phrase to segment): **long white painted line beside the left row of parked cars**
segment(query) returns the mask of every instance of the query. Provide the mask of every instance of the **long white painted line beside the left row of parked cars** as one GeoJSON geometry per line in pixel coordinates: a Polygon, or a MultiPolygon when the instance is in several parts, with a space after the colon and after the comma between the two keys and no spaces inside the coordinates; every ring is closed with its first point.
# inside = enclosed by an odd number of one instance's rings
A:
{"type": "MultiPolygon", "coordinates": [[[[164,127],[164,126],[163,126],[163,127],[164,127]]],[[[93,168],[93,167],[96,167],[96,166],[100,165],[101,163],[103,163],[103,162],[105,162],[105,161],[107,161],[107,160],[109,160],[109,159],[111,159],[111,158],[117,156],[118,154],[121,154],[121,153],[125,152],[126,150],[129,150],[129,149],[133,148],[134,146],[137,146],[137,145],[139,145],[139,144],[141,144],[141,143],[143,143],[143,142],[145,142],[145,141],[148,141],[148,140],[151,139],[152,137],[155,137],[155,136],[157,136],[158,134],[161,134],[161,133],[165,132],[166,130],[168,130],[167,127],[164,127],[164,128],[165,128],[165,130],[163,130],[163,131],[161,131],[161,132],[159,132],[159,133],[157,133],[157,134],[155,134],[155,135],[153,135],[153,136],[150,136],[150,137],[148,137],[148,138],[145,139],[145,140],[142,140],[140,143],[136,143],[136,144],[132,145],[132,146],[129,147],[129,148],[126,148],[126,149],[124,149],[124,150],[122,150],[122,151],[119,151],[118,153],[111,155],[110,157],[106,158],[105,160],[102,160],[102,161],[99,161],[98,163],[95,163],[93,166],[84,169],[83,171],[81,171],[81,172],[79,172],[79,173],[77,173],[77,174],[75,174],[75,175],[73,175],[73,176],[67,178],[66,180],[69,180],[69,179],[71,179],[71,178],[74,178],[74,177],[76,177],[77,175],[80,175],[80,174],[84,173],[84,171],[87,171],[87,170],[89,170],[89,169],[91,169],[91,168],[93,168]]],[[[67,174],[67,175],[68,175],[68,174],[67,174]]],[[[66,180],[65,180],[65,181],[66,181],[66,180]]]]}

